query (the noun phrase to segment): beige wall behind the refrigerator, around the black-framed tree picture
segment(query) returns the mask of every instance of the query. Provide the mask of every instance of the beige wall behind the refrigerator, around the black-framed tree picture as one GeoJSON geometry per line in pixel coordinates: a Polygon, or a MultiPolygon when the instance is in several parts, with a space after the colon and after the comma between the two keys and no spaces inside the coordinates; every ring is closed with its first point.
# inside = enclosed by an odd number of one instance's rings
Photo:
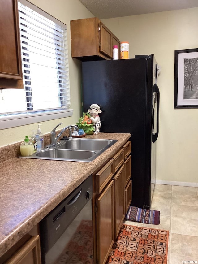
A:
{"type": "Polygon", "coordinates": [[[154,54],[161,66],[157,180],[198,183],[198,109],[175,109],[174,50],[198,48],[198,8],[103,19],[129,58],[154,54]]]}

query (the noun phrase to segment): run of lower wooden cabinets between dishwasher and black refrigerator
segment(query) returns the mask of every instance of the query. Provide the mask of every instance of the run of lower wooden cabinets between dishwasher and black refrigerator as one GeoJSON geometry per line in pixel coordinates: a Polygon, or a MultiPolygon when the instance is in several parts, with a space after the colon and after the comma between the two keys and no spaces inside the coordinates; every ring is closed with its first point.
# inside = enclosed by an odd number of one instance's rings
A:
{"type": "Polygon", "coordinates": [[[105,264],[131,203],[131,141],[93,173],[94,263],[105,264]]]}

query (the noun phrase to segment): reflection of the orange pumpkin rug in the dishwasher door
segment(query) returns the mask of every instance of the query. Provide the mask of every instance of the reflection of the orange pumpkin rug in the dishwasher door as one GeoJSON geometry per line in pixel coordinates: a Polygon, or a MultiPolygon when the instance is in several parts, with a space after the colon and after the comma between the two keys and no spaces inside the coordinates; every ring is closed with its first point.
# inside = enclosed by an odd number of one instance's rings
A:
{"type": "Polygon", "coordinates": [[[82,220],[55,264],[93,264],[92,221],[82,220]]]}

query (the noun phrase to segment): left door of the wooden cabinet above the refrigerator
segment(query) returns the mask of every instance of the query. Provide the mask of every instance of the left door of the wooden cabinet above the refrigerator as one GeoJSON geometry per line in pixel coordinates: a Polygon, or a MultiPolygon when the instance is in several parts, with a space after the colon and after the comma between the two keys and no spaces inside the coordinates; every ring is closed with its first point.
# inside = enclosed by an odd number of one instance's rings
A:
{"type": "Polygon", "coordinates": [[[102,22],[99,23],[99,41],[100,51],[112,58],[112,35],[110,30],[102,22]]]}

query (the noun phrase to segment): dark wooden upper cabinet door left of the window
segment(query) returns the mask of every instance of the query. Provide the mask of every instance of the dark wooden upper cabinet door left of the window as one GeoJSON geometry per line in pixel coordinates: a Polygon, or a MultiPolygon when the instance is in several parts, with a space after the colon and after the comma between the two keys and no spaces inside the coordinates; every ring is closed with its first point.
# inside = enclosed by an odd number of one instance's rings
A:
{"type": "Polygon", "coordinates": [[[17,0],[0,4],[0,78],[23,80],[17,0]]]}

